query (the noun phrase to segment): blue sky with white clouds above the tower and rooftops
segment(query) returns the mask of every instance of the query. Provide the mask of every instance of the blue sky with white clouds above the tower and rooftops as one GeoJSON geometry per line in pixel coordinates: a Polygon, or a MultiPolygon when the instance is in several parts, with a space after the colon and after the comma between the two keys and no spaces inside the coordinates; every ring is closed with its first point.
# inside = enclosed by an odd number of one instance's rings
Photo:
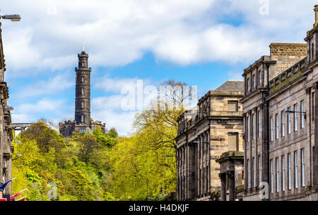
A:
{"type": "MultiPolygon", "coordinates": [[[[312,0],[1,0],[8,103],[13,123],[73,120],[77,54],[90,55],[91,117],[129,136],[125,88],[169,79],[198,98],[269,55],[271,42],[305,43],[312,0]]],[[[132,91],[138,99],[137,91],[132,91]]],[[[130,92],[131,93],[131,92],[130,92]]],[[[143,92],[143,93],[146,93],[143,92]]],[[[146,105],[144,105],[146,106],[146,105]]]]}

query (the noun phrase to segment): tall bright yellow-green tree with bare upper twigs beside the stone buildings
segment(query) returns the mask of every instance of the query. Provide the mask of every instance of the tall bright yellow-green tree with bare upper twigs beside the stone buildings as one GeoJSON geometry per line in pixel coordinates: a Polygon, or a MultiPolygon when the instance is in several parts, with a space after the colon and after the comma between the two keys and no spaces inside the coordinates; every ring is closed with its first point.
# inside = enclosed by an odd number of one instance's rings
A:
{"type": "Polygon", "coordinates": [[[121,138],[111,155],[116,199],[164,199],[176,192],[177,118],[184,112],[185,83],[167,81],[167,100],[154,100],[136,115],[135,134],[121,138]],[[170,100],[170,102],[169,102],[170,100]]]}

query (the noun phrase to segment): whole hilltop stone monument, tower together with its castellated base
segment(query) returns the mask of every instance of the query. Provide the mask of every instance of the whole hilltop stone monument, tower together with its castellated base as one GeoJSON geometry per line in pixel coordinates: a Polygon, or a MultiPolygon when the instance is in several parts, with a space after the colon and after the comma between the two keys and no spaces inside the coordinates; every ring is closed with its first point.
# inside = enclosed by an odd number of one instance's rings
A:
{"type": "Polygon", "coordinates": [[[86,52],[78,54],[78,68],[76,71],[75,88],[75,120],[59,123],[59,132],[62,136],[71,136],[73,132],[94,131],[101,127],[105,133],[105,123],[93,121],[90,118],[90,71],[88,68],[88,57],[86,52]]]}

